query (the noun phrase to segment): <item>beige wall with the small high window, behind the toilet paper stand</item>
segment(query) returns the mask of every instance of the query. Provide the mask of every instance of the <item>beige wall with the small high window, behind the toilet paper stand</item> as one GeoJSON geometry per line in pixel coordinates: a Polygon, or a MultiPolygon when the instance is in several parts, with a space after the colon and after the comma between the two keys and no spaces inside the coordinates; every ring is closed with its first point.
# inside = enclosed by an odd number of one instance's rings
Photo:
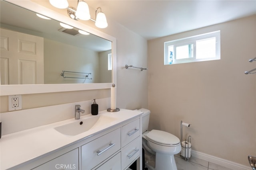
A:
{"type": "MultiPolygon", "coordinates": [[[[180,138],[191,123],[192,149],[249,166],[256,155],[256,16],[148,41],[150,129],[180,138]],[[220,30],[221,59],[164,65],[164,42],[220,30]]],[[[184,138],[183,138],[184,139],[184,138]]]]}

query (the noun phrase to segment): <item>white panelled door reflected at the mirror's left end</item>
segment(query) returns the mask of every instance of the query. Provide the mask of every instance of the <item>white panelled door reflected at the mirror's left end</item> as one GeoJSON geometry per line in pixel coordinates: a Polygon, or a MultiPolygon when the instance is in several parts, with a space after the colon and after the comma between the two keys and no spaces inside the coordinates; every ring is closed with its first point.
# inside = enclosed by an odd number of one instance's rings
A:
{"type": "Polygon", "coordinates": [[[1,28],[1,84],[44,84],[44,39],[1,28]]]}

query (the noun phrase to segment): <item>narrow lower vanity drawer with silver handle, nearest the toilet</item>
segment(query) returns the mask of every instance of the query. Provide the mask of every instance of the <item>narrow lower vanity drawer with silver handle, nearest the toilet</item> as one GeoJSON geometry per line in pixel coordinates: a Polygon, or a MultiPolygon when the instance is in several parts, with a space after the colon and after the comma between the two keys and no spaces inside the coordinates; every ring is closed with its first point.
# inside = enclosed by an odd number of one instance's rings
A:
{"type": "Polygon", "coordinates": [[[121,151],[122,170],[134,162],[136,158],[140,156],[140,152],[142,152],[142,150],[140,148],[140,137],[138,137],[121,151]]]}

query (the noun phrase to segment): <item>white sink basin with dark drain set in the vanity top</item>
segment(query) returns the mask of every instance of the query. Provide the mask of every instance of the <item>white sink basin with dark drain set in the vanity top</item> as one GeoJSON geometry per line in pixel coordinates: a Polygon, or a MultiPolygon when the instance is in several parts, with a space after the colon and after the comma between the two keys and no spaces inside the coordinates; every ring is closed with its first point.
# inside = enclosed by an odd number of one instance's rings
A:
{"type": "Polygon", "coordinates": [[[114,117],[106,115],[95,115],[93,117],[85,117],[83,119],[78,119],[75,122],[61,125],[55,127],[54,129],[64,135],[75,136],[92,129],[93,127],[108,124],[115,120],[116,118],[114,117]]]}

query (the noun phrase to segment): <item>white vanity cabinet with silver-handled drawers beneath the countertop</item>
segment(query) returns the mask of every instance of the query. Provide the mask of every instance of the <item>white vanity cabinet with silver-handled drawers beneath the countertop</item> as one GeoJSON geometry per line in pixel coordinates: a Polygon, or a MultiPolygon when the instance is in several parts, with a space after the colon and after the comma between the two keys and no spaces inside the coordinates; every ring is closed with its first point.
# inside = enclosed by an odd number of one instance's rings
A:
{"type": "Polygon", "coordinates": [[[140,170],[140,117],[133,116],[8,170],[126,170],[135,160],[140,170]]]}

